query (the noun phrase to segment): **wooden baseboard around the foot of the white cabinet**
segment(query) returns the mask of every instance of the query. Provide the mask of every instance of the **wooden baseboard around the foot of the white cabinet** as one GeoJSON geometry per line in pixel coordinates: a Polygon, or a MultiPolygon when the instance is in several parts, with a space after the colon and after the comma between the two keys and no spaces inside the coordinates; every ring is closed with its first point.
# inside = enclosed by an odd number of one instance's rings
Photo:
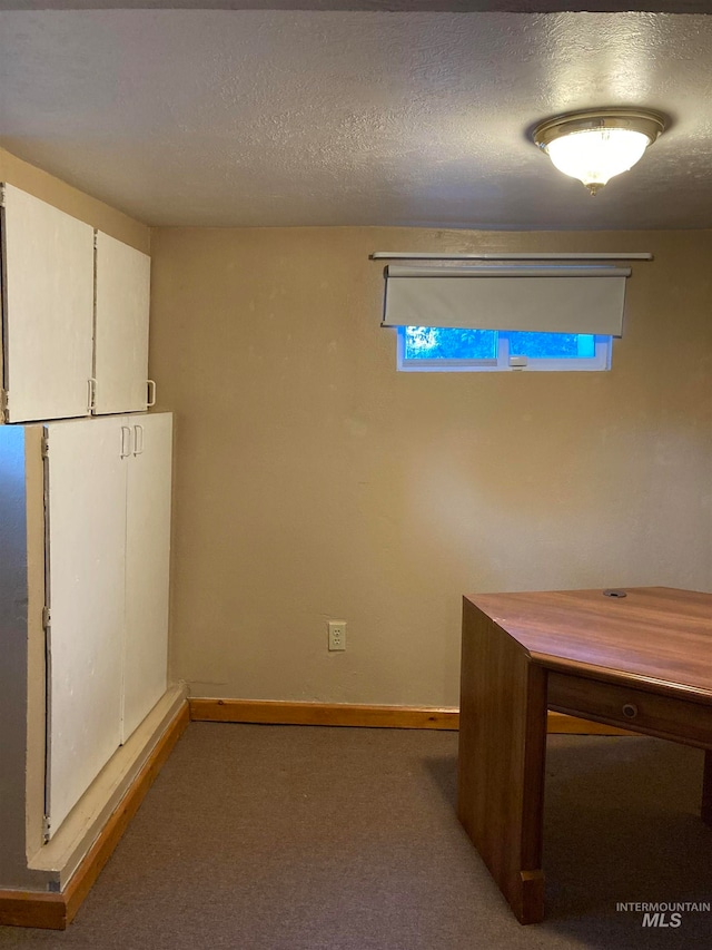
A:
{"type": "Polygon", "coordinates": [[[189,721],[185,703],[65,890],[58,893],[0,891],[0,924],[65,930],[71,923],[189,721]]]}

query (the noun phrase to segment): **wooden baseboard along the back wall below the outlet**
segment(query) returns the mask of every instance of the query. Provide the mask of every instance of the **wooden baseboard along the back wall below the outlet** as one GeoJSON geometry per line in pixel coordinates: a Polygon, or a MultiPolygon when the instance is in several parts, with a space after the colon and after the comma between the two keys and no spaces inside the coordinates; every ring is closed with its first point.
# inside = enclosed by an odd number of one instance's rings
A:
{"type": "MultiPolygon", "coordinates": [[[[206,723],[281,726],[367,726],[392,729],[457,729],[456,708],[287,703],[276,699],[189,699],[190,718],[206,723]]],[[[547,732],[568,735],[631,735],[614,726],[550,713],[547,732]]]]}

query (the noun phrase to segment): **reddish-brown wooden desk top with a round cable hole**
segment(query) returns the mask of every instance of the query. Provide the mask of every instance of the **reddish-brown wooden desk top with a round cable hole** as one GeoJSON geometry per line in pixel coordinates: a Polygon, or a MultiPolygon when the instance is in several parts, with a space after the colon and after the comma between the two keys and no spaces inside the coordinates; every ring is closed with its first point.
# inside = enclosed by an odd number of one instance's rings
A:
{"type": "Polygon", "coordinates": [[[672,587],[466,599],[548,669],[712,704],[712,594],[672,587]]]}

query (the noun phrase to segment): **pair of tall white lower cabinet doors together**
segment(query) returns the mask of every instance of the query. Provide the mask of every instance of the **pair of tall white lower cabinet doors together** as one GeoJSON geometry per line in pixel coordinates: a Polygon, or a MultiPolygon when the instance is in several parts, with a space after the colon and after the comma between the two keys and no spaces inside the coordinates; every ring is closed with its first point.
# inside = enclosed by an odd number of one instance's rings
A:
{"type": "Polygon", "coordinates": [[[167,687],[171,421],[44,427],[49,835],[167,687]]]}

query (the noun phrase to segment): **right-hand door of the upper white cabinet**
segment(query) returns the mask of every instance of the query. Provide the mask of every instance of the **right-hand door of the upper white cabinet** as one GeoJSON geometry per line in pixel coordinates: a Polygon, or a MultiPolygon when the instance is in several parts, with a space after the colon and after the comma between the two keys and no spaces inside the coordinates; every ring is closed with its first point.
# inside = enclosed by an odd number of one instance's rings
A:
{"type": "Polygon", "coordinates": [[[150,257],[97,232],[95,413],[147,405],[150,257]]]}

